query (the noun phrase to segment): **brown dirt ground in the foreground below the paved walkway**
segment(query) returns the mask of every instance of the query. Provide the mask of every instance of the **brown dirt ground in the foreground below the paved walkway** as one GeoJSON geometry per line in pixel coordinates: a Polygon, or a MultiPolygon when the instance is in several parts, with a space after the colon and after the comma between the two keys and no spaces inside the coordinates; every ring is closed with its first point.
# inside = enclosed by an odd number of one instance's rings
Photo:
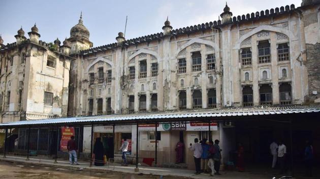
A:
{"type": "MultiPolygon", "coordinates": [[[[144,178],[160,178],[155,175],[145,174],[129,174],[114,171],[99,171],[99,170],[86,170],[86,169],[72,169],[61,168],[46,165],[33,165],[16,162],[0,162],[0,178],[15,179],[15,178],[33,178],[33,179],[98,179],[98,178],[120,178],[120,179],[144,179],[144,178]]],[[[185,179],[183,177],[170,177],[166,176],[166,179],[185,179]]]]}

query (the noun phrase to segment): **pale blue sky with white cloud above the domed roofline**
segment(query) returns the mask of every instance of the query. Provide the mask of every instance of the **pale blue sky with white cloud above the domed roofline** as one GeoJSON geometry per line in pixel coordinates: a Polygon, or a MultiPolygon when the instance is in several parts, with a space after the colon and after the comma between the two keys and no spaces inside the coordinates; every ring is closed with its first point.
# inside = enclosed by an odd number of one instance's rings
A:
{"type": "MultiPolygon", "coordinates": [[[[15,42],[14,35],[22,25],[25,36],[37,23],[41,40],[61,42],[70,37],[70,29],[78,23],[80,12],[83,23],[90,31],[94,47],[116,42],[119,31],[124,31],[128,16],[126,39],[162,32],[169,16],[174,29],[218,20],[225,1],[213,0],[136,0],[136,1],[44,1],[1,0],[0,34],[4,44],[15,42]]],[[[229,0],[228,6],[234,16],[294,4],[301,0],[229,0]]]]}

